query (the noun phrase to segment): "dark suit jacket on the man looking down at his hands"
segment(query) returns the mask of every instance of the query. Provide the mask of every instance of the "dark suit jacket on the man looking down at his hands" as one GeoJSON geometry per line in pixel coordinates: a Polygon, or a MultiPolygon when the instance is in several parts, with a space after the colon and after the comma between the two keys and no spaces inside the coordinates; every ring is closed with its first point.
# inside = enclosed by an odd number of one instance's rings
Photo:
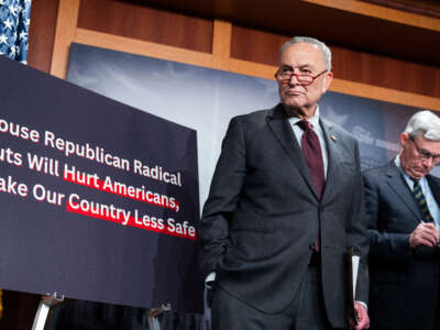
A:
{"type": "MultiPolygon", "coordinates": [[[[440,180],[427,176],[439,202],[440,180]]],[[[364,173],[370,233],[372,329],[433,329],[439,294],[438,248],[409,249],[421,211],[394,161],[364,173]]]]}

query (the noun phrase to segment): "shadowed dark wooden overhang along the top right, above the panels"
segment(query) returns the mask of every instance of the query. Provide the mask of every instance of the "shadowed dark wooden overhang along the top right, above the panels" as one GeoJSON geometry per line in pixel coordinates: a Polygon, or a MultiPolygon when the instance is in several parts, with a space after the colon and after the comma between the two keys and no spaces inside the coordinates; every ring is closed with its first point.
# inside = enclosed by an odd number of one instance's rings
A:
{"type": "Polygon", "coordinates": [[[362,50],[365,53],[391,57],[397,54],[397,57],[409,62],[440,66],[440,57],[431,50],[432,44],[440,40],[440,19],[359,0],[138,0],[138,2],[168,11],[222,19],[260,31],[311,35],[350,50],[362,50]]]}

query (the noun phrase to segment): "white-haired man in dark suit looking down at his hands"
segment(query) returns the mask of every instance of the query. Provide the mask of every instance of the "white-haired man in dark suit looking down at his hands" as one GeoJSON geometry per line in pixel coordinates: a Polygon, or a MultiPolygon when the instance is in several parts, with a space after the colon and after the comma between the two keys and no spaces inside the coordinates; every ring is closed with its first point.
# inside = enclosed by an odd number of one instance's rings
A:
{"type": "Polygon", "coordinates": [[[440,119],[417,112],[399,155],[364,173],[372,329],[439,329],[440,119]]]}

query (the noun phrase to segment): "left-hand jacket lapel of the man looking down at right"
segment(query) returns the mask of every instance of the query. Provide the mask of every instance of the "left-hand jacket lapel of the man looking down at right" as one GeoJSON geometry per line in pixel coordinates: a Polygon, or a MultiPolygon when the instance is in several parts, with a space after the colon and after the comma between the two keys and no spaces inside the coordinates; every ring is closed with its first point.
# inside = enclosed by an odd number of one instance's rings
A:
{"type": "Polygon", "coordinates": [[[386,168],[386,175],[388,185],[394,193],[402,199],[402,201],[416,216],[416,218],[420,219],[420,208],[417,206],[411,190],[403,178],[400,170],[394,164],[394,161],[389,162],[388,167],[386,168]]]}

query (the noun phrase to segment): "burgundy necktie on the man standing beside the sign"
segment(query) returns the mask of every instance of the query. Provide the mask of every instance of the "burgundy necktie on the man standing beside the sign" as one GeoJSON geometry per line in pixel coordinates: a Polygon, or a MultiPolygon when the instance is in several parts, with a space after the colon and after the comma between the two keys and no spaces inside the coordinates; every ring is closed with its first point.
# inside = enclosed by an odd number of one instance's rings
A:
{"type": "Polygon", "coordinates": [[[311,180],[318,198],[322,196],[323,188],[323,161],[318,135],[312,130],[314,125],[307,120],[301,120],[298,125],[304,130],[301,138],[302,154],[310,170],[311,180]]]}

